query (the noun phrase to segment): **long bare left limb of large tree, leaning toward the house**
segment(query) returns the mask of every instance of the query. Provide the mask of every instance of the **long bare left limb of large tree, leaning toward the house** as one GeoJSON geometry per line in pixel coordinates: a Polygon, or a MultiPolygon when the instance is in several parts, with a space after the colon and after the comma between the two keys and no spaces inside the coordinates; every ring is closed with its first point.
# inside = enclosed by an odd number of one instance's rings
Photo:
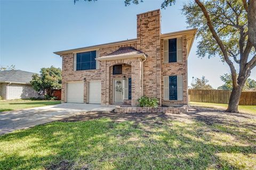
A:
{"type": "Polygon", "coordinates": [[[235,66],[234,66],[233,62],[231,62],[229,60],[227,50],[226,50],[225,46],[223,45],[221,39],[217,35],[217,32],[214,30],[213,25],[212,25],[212,21],[210,19],[210,16],[209,16],[205,6],[199,0],[195,0],[195,2],[201,8],[201,10],[202,10],[202,12],[205,16],[205,19],[207,20],[207,25],[208,25],[210,31],[212,32],[212,36],[217,41],[218,45],[220,46],[221,52],[223,53],[223,56],[224,56],[224,59],[230,67],[230,71],[231,71],[231,74],[232,74],[232,80],[233,80],[233,87],[237,87],[238,84],[237,84],[237,75],[236,75],[235,66]]]}

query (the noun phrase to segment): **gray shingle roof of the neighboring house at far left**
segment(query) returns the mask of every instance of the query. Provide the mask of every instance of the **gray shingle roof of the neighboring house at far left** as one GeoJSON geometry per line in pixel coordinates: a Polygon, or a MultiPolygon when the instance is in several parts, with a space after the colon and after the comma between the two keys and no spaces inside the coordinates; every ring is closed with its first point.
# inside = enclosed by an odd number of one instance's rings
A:
{"type": "Polygon", "coordinates": [[[30,83],[33,74],[36,73],[21,70],[0,71],[0,82],[30,83]]]}

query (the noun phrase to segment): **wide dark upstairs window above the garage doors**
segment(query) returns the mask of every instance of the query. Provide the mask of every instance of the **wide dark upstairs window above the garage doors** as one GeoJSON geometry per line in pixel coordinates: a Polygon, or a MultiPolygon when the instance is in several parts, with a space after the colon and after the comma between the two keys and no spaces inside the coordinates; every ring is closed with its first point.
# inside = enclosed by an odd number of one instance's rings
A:
{"type": "Polygon", "coordinates": [[[76,70],[94,70],[96,69],[96,51],[77,53],[76,70]]]}

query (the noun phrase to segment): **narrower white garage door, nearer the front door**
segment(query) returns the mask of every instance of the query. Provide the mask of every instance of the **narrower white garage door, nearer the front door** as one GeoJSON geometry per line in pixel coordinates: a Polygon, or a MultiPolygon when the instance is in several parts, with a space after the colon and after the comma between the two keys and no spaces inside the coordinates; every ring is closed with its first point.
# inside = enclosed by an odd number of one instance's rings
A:
{"type": "Polygon", "coordinates": [[[101,82],[89,81],[88,102],[91,104],[101,104],[101,82]]]}

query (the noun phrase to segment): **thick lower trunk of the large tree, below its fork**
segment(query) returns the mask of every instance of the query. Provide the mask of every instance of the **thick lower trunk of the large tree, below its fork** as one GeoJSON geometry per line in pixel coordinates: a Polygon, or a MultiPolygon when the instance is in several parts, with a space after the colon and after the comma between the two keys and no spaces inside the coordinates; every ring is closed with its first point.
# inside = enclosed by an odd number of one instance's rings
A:
{"type": "Polygon", "coordinates": [[[242,89],[243,87],[241,86],[233,87],[226,112],[238,113],[238,104],[242,93],[242,89]]]}

